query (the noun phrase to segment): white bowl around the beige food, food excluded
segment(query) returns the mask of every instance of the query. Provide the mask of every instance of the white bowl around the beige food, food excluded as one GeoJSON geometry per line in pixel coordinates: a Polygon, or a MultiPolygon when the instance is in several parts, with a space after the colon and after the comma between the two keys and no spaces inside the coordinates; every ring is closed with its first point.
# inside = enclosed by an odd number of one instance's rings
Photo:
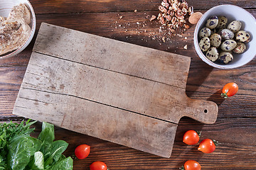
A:
{"type": "Polygon", "coordinates": [[[9,16],[9,13],[11,11],[11,8],[18,5],[18,4],[26,4],[28,9],[31,11],[31,33],[28,37],[28,40],[21,45],[21,47],[18,47],[17,50],[14,50],[12,52],[8,52],[4,55],[0,55],[0,59],[4,59],[7,57],[12,57],[14,55],[17,55],[19,52],[24,50],[28,44],[31,42],[33,35],[35,34],[36,31],[36,15],[35,12],[33,11],[33,7],[31,6],[30,2],[28,0],[0,0],[0,16],[7,17],[9,16]]]}

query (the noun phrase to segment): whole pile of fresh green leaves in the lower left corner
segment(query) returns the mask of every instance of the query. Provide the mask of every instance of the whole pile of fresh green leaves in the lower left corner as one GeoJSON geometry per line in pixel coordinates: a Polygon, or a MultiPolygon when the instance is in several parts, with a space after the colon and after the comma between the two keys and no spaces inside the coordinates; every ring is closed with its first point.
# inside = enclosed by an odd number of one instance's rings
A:
{"type": "Polygon", "coordinates": [[[53,142],[54,126],[43,123],[36,139],[30,136],[34,123],[0,123],[0,170],[73,169],[73,159],[62,154],[68,143],[53,142]]]}

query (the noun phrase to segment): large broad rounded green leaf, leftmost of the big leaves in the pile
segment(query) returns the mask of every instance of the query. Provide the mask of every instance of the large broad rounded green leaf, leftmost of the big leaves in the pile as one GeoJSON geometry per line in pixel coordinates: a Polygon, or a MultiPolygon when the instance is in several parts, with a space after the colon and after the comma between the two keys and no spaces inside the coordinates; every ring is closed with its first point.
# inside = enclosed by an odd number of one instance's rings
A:
{"type": "Polygon", "coordinates": [[[26,135],[21,135],[11,140],[7,157],[9,169],[24,169],[30,162],[31,156],[41,148],[41,144],[40,140],[26,135]]]}

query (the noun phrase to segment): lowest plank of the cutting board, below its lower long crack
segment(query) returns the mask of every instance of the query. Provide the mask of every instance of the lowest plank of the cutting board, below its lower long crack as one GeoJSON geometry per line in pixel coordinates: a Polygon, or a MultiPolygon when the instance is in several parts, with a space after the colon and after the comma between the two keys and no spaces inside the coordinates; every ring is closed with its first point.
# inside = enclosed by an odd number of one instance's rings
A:
{"type": "Polygon", "coordinates": [[[171,156],[177,128],[173,123],[74,96],[23,88],[18,94],[14,113],[161,157],[171,156]]]}

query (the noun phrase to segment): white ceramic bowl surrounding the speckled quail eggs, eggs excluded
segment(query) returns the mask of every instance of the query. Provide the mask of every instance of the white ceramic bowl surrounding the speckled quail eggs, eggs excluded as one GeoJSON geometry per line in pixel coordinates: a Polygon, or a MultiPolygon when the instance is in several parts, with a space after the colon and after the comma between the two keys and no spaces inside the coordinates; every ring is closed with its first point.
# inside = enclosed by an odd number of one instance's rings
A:
{"type": "MultiPolygon", "coordinates": [[[[228,25],[228,24],[227,24],[228,25]]],[[[220,5],[210,8],[206,13],[203,14],[201,19],[198,21],[196,25],[196,29],[194,32],[194,45],[198,56],[212,67],[218,69],[234,69],[237,67],[241,67],[248,62],[250,62],[256,56],[256,20],[249,12],[245,11],[245,9],[240,8],[239,6],[233,5],[220,5]],[[246,30],[250,33],[250,42],[246,44],[247,50],[242,54],[233,53],[234,60],[228,64],[220,64],[218,62],[211,62],[208,58],[203,54],[198,45],[198,32],[201,28],[205,27],[206,20],[210,18],[210,16],[225,16],[228,18],[228,23],[238,20],[242,23],[241,30],[246,30]]]]}

